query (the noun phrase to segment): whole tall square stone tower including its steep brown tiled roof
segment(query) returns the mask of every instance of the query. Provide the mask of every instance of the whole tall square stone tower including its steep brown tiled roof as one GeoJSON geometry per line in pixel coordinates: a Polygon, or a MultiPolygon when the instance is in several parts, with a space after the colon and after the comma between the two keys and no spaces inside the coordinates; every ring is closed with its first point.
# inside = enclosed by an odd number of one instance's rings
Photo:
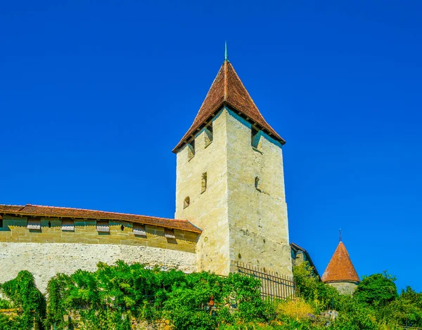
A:
{"type": "Polygon", "coordinates": [[[203,230],[197,268],[227,275],[246,263],[292,275],[283,138],[224,60],[177,154],[175,218],[203,230]]]}

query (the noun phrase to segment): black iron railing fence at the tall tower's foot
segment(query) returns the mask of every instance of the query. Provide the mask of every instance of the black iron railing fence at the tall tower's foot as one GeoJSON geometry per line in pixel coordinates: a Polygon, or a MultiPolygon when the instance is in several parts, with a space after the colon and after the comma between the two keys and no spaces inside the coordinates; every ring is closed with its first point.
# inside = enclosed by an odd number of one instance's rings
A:
{"type": "Polygon", "coordinates": [[[262,298],[295,298],[295,279],[264,268],[257,268],[244,263],[237,263],[238,272],[255,277],[261,281],[262,298]]]}

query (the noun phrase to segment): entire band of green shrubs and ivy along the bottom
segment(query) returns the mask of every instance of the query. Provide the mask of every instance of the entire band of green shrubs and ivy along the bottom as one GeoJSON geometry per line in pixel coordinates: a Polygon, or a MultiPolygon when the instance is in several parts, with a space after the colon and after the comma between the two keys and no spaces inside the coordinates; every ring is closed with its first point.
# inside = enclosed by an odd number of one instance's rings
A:
{"type": "MultiPolygon", "coordinates": [[[[263,301],[260,282],[240,274],[219,277],[207,272],[186,275],[143,265],[98,263],[95,272],[58,274],[47,301],[30,272],[1,284],[0,330],[129,330],[134,324],[164,322],[172,329],[402,329],[422,327],[422,293],[410,287],[397,295],[395,278],[364,277],[354,296],[342,296],[312,276],[307,263],[295,267],[299,297],[263,301]]],[[[138,329],[141,329],[139,327],[138,329]]]]}

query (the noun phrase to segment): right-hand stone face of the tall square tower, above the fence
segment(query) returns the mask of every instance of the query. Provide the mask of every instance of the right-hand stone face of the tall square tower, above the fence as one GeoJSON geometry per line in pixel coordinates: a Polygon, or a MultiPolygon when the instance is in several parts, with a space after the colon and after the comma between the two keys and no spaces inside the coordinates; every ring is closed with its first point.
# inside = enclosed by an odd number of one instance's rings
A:
{"type": "Polygon", "coordinates": [[[291,277],[281,144],[261,132],[252,147],[250,123],[234,112],[226,125],[231,268],[241,261],[291,277]]]}

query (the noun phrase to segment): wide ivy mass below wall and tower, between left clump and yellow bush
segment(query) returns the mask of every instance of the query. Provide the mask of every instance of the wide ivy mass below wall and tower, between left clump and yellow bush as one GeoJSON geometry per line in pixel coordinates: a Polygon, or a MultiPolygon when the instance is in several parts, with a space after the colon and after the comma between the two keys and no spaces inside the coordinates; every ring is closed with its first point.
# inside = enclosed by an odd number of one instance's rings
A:
{"type": "Polygon", "coordinates": [[[47,291],[47,324],[56,329],[64,329],[72,317],[82,328],[122,330],[130,329],[132,319],[170,319],[181,330],[267,319],[259,280],[238,274],[186,275],[118,261],[115,265],[98,263],[95,272],[58,274],[47,291]],[[209,306],[211,297],[218,313],[209,306]]]}

